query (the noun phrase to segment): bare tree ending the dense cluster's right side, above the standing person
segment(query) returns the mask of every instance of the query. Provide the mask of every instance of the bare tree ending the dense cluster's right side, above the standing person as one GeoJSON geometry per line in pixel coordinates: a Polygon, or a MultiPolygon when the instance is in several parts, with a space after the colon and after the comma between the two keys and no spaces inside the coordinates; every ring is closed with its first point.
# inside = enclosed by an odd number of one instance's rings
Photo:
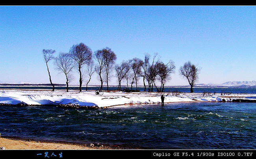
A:
{"type": "Polygon", "coordinates": [[[175,68],[176,67],[172,60],[170,60],[167,64],[164,64],[163,62],[159,62],[157,64],[159,80],[161,81],[160,92],[163,92],[164,84],[167,80],[171,78],[171,74],[175,72],[175,68]]]}

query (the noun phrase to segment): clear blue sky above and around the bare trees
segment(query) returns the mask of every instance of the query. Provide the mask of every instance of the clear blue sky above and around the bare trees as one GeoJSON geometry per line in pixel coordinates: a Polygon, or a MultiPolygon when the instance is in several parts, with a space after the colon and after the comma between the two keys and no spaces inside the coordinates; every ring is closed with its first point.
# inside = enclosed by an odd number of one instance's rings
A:
{"type": "MultiPolygon", "coordinates": [[[[79,43],[111,48],[117,64],[158,53],[176,66],[165,85],[188,85],[187,61],[200,68],[198,84],[256,80],[256,6],[0,6],[0,83],[50,83],[42,50],[56,57],[79,43]]],[[[52,82],[65,84],[55,68],[52,82]]],[[[96,74],[89,84],[100,85],[96,74]]]]}

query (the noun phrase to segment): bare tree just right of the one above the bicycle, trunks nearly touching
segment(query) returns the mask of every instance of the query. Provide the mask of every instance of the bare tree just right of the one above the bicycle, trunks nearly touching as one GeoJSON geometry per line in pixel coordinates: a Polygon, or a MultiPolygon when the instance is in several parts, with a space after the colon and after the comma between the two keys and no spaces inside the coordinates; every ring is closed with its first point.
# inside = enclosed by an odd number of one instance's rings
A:
{"type": "Polygon", "coordinates": [[[104,48],[102,50],[104,52],[104,58],[105,58],[105,71],[106,71],[106,82],[107,82],[107,90],[108,90],[108,80],[110,77],[111,69],[115,65],[115,60],[117,59],[117,55],[108,47],[104,48]]]}

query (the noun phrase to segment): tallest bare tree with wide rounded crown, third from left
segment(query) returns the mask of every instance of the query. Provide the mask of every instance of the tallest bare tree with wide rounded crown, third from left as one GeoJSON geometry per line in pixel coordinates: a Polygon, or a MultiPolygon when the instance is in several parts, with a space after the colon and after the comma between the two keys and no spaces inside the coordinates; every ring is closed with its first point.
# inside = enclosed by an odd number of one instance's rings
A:
{"type": "Polygon", "coordinates": [[[82,92],[82,82],[83,82],[82,67],[83,67],[83,65],[91,62],[92,51],[91,51],[91,48],[89,48],[88,46],[86,46],[83,43],[80,43],[80,44],[73,45],[70,48],[69,52],[70,52],[72,58],[76,61],[76,64],[78,67],[78,71],[80,74],[79,90],[80,90],[80,92],[82,92]]]}

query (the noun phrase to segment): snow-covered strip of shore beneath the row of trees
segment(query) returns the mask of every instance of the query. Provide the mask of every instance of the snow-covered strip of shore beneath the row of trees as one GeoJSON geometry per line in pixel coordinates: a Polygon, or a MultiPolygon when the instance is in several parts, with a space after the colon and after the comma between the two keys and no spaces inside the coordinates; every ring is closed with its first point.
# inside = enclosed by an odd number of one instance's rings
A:
{"type": "Polygon", "coordinates": [[[65,90],[22,90],[1,89],[0,104],[8,105],[76,105],[78,107],[106,108],[124,104],[153,104],[161,103],[160,96],[164,94],[165,103],[170,102],[256,102],[256,94],[203,94],[203,93],[177,93],[171,92],[104,92],[96,95],[95,91],[65,90]]]}

